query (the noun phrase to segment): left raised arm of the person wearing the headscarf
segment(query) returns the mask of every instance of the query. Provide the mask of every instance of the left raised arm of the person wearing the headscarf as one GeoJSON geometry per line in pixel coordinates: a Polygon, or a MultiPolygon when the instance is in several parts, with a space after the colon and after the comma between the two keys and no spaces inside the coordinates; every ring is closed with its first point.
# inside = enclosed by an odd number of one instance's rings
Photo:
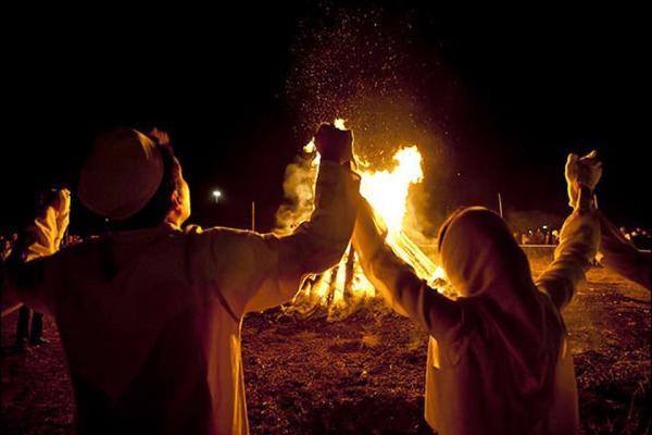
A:
{"type": "Polygon", "coordinates": [[[362,200],[353,246],[365,275],[398,313],[409,316],[436,339],[462,321],[459,304],[428,287],[414,270],[385,243],[383,223],[362,200]]]}

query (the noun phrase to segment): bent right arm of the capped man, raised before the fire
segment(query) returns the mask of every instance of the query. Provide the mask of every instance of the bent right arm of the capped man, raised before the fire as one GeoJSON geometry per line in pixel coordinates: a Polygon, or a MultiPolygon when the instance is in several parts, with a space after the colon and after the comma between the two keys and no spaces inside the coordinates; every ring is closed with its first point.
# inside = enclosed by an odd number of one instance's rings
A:
{"type": "Polygon", "coordinates": [[[331,137],[321,138],[327,144],[317,141],[322,162],[315,209],[292,234],[278,237],[224,228],[206,232],[212,240],[216,286],[235,315],[289,301],[309,274],[335,265],[347,249],[358,212],[359,176],[349,163],[352,136],[338,132],[330,130],[331,137]],[[341,149],[334,152],[325,149],[327,145],[341,149]]]}

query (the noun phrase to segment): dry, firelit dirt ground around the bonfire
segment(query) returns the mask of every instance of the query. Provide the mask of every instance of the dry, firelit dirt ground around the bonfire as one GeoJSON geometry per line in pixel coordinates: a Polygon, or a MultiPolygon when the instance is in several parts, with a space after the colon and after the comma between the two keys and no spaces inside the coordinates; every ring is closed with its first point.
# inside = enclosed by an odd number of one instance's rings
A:
{"type": "MultiPolygon", "coordinates": [[[[543,264],[534,257],[535,272],[543,264]]],[[[564,316],[586,434],[652,433],[650,293],[603,269],[564,316]]],[[[59,336],[9,352],[16,314],[2,319],[2,434],[73,433],[73,396],[59,336]]],[[[243,359],[253,434],[421,434],[427,335],[378,306],[341,322],[273,310],[248,315],[243,359]]]]}

